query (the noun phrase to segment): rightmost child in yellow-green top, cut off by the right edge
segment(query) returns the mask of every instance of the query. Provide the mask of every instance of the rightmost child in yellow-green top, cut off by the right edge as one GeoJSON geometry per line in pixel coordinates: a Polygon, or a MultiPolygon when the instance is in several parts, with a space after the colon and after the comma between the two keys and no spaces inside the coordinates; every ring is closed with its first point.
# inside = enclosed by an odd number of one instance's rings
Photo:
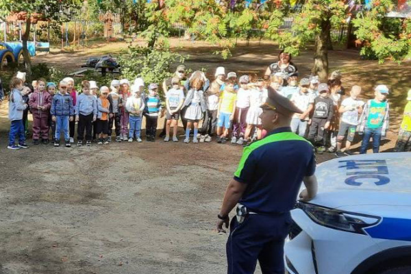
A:
{"type": "Polygon", "coordinates": [[[407,105],[404,109],[403,121],[399,128],[397,144],[394,151],[411,151],[411,90],[408,90],[407,105]]]}

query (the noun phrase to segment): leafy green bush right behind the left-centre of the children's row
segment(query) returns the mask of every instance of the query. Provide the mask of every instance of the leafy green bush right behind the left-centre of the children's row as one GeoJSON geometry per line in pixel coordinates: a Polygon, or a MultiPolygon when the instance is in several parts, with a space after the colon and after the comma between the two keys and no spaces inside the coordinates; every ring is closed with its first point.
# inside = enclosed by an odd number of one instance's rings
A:
{"type": "Polygon", "coordinates": [[[119,57],[119,64],[121,64],[121,73],[124,78],[142,77],[147,84],[161,84],[164,79],[173,75],[169,72],[171,64],[184,63],[184,60],[186,57],[172,53],[166,45],[155,49],[136,46],[129,47],[127,53],[119,57]]]}

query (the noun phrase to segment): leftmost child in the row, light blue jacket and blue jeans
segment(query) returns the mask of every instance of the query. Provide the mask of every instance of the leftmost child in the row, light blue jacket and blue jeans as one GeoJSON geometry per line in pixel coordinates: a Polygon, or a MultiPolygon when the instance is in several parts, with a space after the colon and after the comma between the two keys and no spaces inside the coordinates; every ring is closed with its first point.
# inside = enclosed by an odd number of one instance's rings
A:
{"type": "Polygon", "coordinates": [[[10,125],[9,145],[8,149],[27,149],[25,143],[23,111],[27,109],[27,103],[23,103],[21,90],[23,89],[23,81],[14,77],[10,84],[10,103],[9,103],[9,119],[12,122],[10,125]],[[18,145],[14,143],[18,135],[18,145]]]}

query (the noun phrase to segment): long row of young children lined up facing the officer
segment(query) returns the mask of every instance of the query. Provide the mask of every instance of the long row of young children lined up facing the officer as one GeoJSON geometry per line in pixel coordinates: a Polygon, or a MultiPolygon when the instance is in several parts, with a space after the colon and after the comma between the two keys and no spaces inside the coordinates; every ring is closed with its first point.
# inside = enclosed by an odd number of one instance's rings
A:
{"type": "MultiPolygon", "coordinates": [[[[376,153],[389,122],[387,86],[377,86],[375,98],[366,103],[358,99],[362,92],[360,86],[353,86],[343,99],[345,92],[338,72],[332,73],[327,83],[319,83],[318,77],[298,81],[297,72],[273,73],[268,80],[253,75],[238,78],[234,72],[226,75],[225,68],[220,66],[211,83],[199,71],[184,82],[178,75],[171,78],[170,88],[164,90],[164,103],[158,95],[158,85],[149,84],[146,93],[142,78],[135,79],[132,84],[127,79],[113,80],[110,87],[101,88],[96,82],[85,80],[79,92],[70,77],[62,79],[58,85],[40,78],[30,93],[24,76],[18,73],[10,84],[9,149],[27,148],[25,120],[28,111],[33,114],[34,145],[47,144],[51,129],[55,147],[60,146],[61,133],[64,145],[71,147],[76,123],[79,147],[90,146],[92,140],[100,145],[108,144],[112,141],[113,128],[116,142],[142,142],[143,117],[147,141],[151,142],[156,138],[158,118],[164,114],[165,142],[179,141],[177,125],[182,119],[185,143],[190,142],[190,138],[195,143],[210,142],[216,136],[219,143],[231,140],[232,144],[247,145],[266,134],[260,119],[260,105],[268,97],[268,86],[303,111],[292,118],[292,132],[310,140],[319,153],[328,147],[327,150],[337,157],[351,155],[351,142],[356,132],[363,135],[360,153],[366,153],[371,138],[376,153]],[[15,144],[16,136],[18,145],[15,144]]],[[[411,147],[410,103],[407,106],[396,151],[409,151],[411,147]]]]}

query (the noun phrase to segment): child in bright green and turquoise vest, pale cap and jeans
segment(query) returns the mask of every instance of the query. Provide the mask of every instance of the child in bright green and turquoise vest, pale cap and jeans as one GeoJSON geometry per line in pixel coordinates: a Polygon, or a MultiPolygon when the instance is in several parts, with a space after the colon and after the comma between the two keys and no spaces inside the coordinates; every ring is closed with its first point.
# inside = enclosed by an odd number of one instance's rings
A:
{"type": "Polygon", "coordinates": [[[390,106],[387,101],[389,94],[386,85],[378,85],[375,88],[375,97],[366,102],[358,123],[358,134],[364,134],[360,153],[366,153],[371,137],[373,138],[373,152],[379,152],[379,142],[387,134],[390,121],[390,106]]]}

